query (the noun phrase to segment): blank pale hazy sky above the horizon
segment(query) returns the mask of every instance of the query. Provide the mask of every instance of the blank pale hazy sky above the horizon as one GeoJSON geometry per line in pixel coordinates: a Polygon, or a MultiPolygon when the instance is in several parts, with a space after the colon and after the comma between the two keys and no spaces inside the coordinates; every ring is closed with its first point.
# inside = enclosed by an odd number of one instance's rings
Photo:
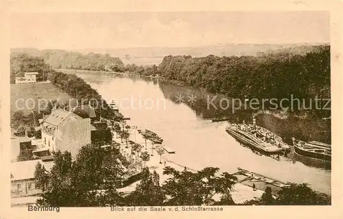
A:
{"type": "Polygon", "coordinates": [[[199,47],[329,42],[328,12],[12,14],[11,47],[199,47]]]}

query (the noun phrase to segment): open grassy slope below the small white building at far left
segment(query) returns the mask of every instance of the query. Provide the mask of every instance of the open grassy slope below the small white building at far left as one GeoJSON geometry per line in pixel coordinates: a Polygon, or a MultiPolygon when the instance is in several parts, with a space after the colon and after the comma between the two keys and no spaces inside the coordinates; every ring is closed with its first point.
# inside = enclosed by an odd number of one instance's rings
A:
{"type": "MultiPolygon", "coordinates": [[[[66,92],[63,92],[52,83],[32,83],[32,84],[11,84],[11,114],[16,110],[16,102],[18,107],[25,107],[25,101],[27,101],[27,106],[23,109],[25,114],[29,114],[31,110],[28,108],[36,106],[35,109],[38,110],[38,99],[46,99],[47,101],[57,100],[58,102],[69,101],[71,96],[66,92]],[[27,101],[32,99],[34,101],[27,101]],[[17,101],[19,100],[19,101],[17,101]]],[[[43,103],[44,104],[44,103],[43,103]]]]}

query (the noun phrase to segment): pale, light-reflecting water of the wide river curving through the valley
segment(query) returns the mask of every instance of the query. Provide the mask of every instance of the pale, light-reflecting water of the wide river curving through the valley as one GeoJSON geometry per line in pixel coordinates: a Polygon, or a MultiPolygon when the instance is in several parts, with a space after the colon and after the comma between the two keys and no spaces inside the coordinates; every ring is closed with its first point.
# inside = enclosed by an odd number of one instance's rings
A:
{"type": "MultiPolygon", "coordinates": [[[[202,89],[142,77],[82,71],[75,73],[106,101],[115,99],[120,112],[131,118],[129,125],[150,129],[161,136],[164,146],[176,151],[175,154],[166,155],[173,162],[197,170],[208,166],[218,167],[220,171],[229,173],[237,172],[237,167],[240,167],[281,181],[309,183],[314,190],[331,193],[330,170],[306,166],[286,158],[276,161],[252,153],[226,133],[226,122],[212,123],[206,119],[213,116],[213,110],[206,110],[204,98],[200,96],[208,93],[202,89]],[[198,96],[196,101],[190,101],[191,94],[198,96]],[[180,95],[183,96],[182,103],[178,99],[180,95]]],[[[241,119],[239,116],[237,114],[236,118],[241,119]]],[[[259,121],[264,125],[274,124],[263,119],[257,120],[257,123],[259,121]]]]}

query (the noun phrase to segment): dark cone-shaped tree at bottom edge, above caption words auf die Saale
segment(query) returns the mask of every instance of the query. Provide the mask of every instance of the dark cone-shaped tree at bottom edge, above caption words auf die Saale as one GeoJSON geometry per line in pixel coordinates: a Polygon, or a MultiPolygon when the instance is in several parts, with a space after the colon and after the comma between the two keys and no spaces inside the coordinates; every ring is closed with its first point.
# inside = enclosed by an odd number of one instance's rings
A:
{"type": "Polygon", "coordinates": [[[161,206],[165,200],[159,183],[159,176],[154,171],[150,173],[148,168],[143,168],[141,183],[128,195],[128,206],[161,206]]]}

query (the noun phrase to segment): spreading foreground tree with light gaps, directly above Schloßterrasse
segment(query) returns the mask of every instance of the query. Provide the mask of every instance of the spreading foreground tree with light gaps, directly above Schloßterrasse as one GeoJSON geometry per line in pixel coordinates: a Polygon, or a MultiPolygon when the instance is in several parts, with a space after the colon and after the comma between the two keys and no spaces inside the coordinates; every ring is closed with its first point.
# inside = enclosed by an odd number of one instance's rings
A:
{"type": "Polygon", "coordinates": [[[165,195],[169,197],[167,205],[214,205],[213,196],[222,196],[222,203],[227,203],[230,190],[237,178],[223,172],[217,176],[219,168],[204,168],[198,172],[184,170],[182,172],[169,166],[163,170],[164,175],[170,175],[162,186],[165,195]]]}

